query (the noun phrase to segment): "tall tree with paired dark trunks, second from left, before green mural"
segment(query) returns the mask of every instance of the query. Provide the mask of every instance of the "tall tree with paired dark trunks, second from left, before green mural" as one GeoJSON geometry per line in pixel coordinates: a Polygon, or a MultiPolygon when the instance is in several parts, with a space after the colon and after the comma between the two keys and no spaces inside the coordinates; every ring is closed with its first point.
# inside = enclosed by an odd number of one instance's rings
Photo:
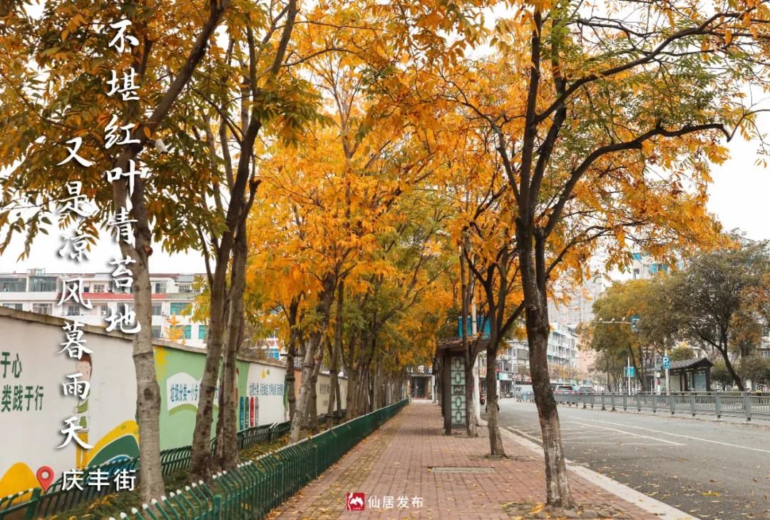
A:
{"type": "MultiPolygon", "coordinates": [[[[183,128],[205,146],[199,169],[215,173],[206,189],[210,214],[200,214],[191,205],[189,213],[180,216],[182,222],[192,223],[189,233],[195,233],[192,243],[206,259],[210,291],[206,368],[192,441],[191,471],[198,478],[207,478],[212,468],[232,468],[238,461],[235,368],[245,327],[246,220],[261,183],[257,154],[271,140],[290,146],[302,127],[318,117],[317,96],[290,72],[288,56],[294,49],[290,43],[298,12],[293,0],[270,4],[266,10],[239,5],[227,26],[226,52],[206,64],[206,75],[192,92],[191,104],[202,114],[199,125],[183,128]],[[209,441],[219,379],[222,391],[212,465],[209,441]]],[[[185,246],[189,242],[181,244],[185,246]]]]}

